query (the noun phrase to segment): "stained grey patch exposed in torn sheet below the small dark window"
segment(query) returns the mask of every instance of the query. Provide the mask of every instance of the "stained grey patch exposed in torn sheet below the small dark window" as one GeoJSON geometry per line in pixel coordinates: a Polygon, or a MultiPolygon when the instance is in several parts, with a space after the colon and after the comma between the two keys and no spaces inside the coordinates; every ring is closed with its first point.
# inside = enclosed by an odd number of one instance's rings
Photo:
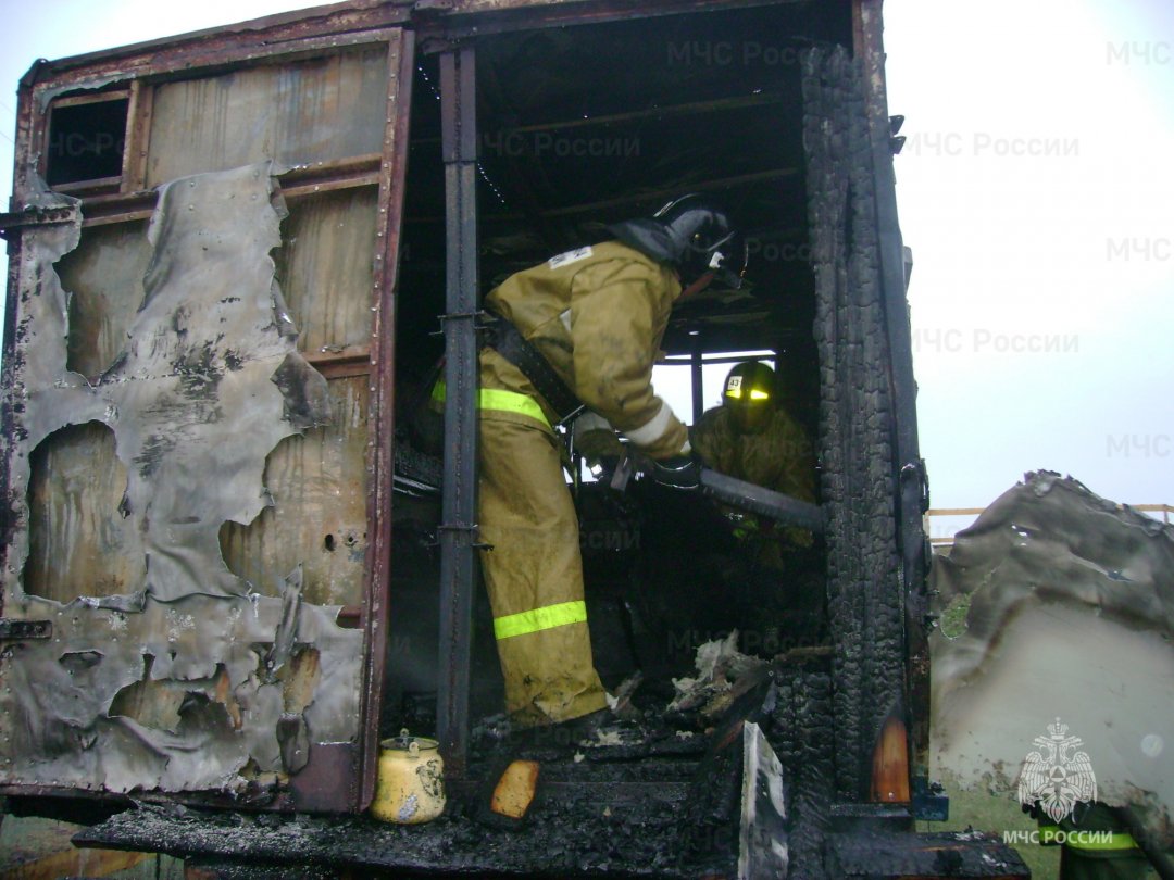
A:
{"type": "Polygon", "coordinates": [[[150,259],[146,229],[146,223],[82,229],[81,243],[56,266],[69,292],[68,366],[76,373],[101,374],[126,345],[143,302],[150,259]]]}

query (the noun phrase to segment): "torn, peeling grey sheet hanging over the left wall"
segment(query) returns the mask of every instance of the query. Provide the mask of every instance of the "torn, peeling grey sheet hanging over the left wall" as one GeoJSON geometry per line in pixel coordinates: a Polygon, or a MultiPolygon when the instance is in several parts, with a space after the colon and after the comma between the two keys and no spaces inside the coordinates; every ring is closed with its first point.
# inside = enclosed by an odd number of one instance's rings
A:
{"type": "Polygon", "coordinates": [[[72,205],[73,222],[22,237],[4,614],[50,621],[53,636],[0,655],[6,783],[236,792],[296,772],[311,743],[357,738],[362,632],[335,623],[337,607],[303,602],[297,561],[266,573],[275,596],[262,596],[220,550],[225,521],[248,524],[270,503],[269,453],[329,418],[274,280],[284,211],[271,170],[161,188],[142,305],[94,385],[66,368],[68,297],[53,270],[77,244],[76,203],[43,196],[72,205]],[[101,513],[140,536],[141,581],[29,595],[32,453],[87,422],[114,433],[126,493],[101,513]]]}

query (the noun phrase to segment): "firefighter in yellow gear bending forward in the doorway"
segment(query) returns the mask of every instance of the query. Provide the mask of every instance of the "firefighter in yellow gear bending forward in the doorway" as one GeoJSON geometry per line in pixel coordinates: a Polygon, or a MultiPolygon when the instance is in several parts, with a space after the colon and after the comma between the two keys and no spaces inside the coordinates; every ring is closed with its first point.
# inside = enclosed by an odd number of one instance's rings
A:
{"type": "MultiPolygon", "coordinates": [[[[688,455],[688,431],[653,391],[652,370],[682,292],[740,279],[727,215],[697,196],[608,228],[615,241],[561,253],[495,287],[508,321],[578,400],[653,459],[688,455]]],[[[741,245],[744,257],[744,245],[741,245]]],[[[541,384],[541,383],[539,383],[541,384]]],[[[502,351],[480,351],[480,539],[517,727],[606,706],[583,602],[579,524],[552,426],[558,412],[502,351]]]]}

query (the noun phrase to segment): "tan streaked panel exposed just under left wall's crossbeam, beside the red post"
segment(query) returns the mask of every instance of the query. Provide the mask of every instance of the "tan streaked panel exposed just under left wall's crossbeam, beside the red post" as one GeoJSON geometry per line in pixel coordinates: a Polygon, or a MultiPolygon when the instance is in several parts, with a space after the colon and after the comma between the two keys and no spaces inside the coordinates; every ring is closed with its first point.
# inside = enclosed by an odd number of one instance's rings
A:
{"type": "Polygon", "coordinates": [[[302,325],[302,351],[371,341],[377,199],[377,188],[363,187],[290,203],[277,277],[302,325]]]}

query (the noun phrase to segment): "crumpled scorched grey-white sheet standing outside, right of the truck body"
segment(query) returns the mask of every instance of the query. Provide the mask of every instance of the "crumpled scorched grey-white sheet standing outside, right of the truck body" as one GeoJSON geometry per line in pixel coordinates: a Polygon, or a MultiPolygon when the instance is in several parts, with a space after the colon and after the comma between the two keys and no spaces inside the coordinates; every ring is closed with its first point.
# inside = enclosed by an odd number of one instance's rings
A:
{"type": "Polygon", "coordinates": [[[1040,760],[1072,785],[1091,770],[1168,849],[1174,528],[1033,473],[935,560],[933,584],[936,773],[1014,800],[1040,760]]]}

